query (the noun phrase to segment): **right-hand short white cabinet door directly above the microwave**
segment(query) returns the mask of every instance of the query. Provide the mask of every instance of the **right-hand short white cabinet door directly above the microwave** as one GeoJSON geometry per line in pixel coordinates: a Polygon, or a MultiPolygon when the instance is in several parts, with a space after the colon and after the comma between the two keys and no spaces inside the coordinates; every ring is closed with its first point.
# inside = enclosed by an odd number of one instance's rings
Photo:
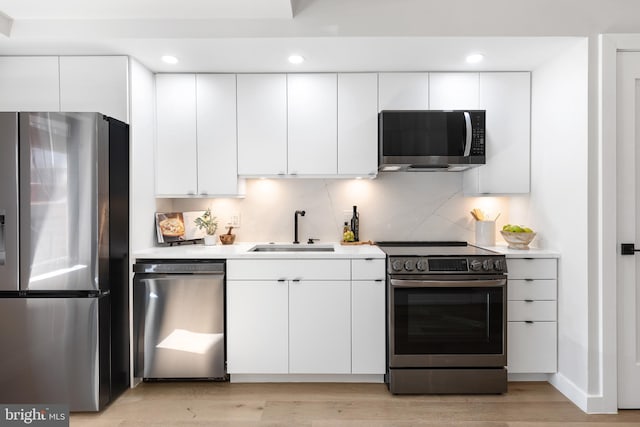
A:
{"type": "Polygon", "coordinates": [[[476,110],[479,96],[478,73],[429,73],[432,110],[476,110]]]}

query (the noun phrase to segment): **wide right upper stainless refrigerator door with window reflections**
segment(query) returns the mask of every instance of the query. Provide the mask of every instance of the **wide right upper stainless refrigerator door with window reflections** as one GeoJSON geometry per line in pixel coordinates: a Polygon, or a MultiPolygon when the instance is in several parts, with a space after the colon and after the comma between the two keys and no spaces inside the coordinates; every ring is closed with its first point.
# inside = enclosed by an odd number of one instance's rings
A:
{"type": "Polygon", "coordinates": [[[108,127],[20,113],[20,289],[97,290],[108,269],[108,127]]]}

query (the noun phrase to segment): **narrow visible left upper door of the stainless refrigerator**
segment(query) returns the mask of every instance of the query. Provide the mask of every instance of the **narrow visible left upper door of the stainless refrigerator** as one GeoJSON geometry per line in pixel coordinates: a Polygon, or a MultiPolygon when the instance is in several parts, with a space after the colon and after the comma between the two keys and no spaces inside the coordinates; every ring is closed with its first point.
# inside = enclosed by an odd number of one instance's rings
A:
{"type": "Polygon", "coordinates": [[[0,113],[0,291],[18,290],[18,114],[0,113]]]}

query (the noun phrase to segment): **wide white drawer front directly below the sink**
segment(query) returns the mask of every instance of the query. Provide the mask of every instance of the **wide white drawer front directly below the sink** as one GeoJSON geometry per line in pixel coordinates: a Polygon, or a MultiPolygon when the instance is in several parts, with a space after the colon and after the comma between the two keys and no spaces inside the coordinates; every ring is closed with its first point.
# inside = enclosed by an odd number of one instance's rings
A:
{"type": "Polygon", "coordinates": [[[227,261],[227,280],[351,280],[348,259],[227,261]]]}

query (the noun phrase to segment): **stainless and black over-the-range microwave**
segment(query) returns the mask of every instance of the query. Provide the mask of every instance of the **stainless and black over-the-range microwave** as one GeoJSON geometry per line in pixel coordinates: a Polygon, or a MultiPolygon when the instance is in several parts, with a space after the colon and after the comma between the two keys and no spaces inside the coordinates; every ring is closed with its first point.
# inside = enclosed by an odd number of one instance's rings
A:
{"type": "Polygon", "coordinates": [[[484,110],[379,113],[380,171],[461,171],[483,164],[484,110]]]}

